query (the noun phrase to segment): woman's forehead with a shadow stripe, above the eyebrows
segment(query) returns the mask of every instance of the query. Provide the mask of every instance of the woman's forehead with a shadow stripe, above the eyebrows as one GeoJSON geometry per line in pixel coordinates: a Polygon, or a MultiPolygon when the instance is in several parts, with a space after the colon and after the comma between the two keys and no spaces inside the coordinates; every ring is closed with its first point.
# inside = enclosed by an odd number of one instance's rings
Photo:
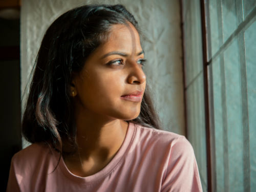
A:
{"type": "Polygon", "coordinates": [[[129,25],[115,25],[109,40],[102,46],[102,50],[104,52],[123,51],[131,54],[140,52],[142,49],[139,33],[130,23],[129,25]]]}

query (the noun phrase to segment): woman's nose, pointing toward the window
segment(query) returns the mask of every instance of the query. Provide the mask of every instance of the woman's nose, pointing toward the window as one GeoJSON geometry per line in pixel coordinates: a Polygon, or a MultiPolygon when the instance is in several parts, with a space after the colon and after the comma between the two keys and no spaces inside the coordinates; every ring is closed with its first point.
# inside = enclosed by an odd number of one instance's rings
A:
{"type": "Polygon", "coordinates": [[[146,81],[146,75],[141,69],[141,65],[133,61],[130,65],[128,83],[130,84],[142,84],[146,81]]]}

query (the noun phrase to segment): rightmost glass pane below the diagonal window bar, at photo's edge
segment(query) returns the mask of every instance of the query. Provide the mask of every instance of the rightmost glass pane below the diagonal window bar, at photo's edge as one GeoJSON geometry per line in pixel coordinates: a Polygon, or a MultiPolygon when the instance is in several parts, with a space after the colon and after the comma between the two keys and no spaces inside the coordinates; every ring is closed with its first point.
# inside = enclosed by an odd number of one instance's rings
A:
{"type": "Polygon", "coordinates": [[[250,184],[256,189],[256,22],[245,32],[247,93],[250,135],[250,184]]]}

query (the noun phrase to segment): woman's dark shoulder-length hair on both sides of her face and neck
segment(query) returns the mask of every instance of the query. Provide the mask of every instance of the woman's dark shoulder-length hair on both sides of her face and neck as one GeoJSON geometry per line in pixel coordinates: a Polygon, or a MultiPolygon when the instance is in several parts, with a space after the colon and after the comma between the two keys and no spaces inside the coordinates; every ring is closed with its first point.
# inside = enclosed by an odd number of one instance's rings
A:
{"type": "MultiPolygon", "coordinates": [[[[141,36],[138,22],[124,6],[93,4],[74,8],[51,24],[31,72],[22,119],[22,134],[27,141],[50,142],[60,154],[77,151],[71,73],[82,70],[89,55],[109,38],[113,25],[129,23],[141,36]],[[71,149],[67,150],[67,145],[71,149]]],[[[127,122],[160,129],[148,86],[139,116],[127,122]]]]}

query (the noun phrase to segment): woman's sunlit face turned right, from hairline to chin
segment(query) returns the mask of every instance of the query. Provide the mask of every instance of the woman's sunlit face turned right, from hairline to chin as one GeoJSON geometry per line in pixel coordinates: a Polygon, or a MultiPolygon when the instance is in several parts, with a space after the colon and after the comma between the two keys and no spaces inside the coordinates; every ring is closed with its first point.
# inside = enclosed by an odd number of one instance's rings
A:
{"type": "Polygon", "coordinates": [[[73,78],[79,111],[135,119],[146,86],[143,57],[134,26],[113,26],[110,39],[89,56],[83,70],[73,78]]]}

